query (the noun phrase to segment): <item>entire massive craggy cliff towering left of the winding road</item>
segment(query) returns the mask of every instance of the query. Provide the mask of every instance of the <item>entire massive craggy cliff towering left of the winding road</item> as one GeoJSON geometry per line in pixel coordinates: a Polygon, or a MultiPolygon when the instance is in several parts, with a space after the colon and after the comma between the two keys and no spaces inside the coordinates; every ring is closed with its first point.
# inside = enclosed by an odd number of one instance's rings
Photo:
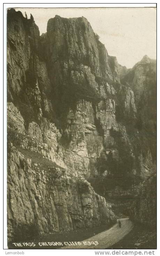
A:
{"type": "Polygon", "coordinates": [[[56,15],[40,36],[10,9],[7,40],[9,235],[109,226],[106,200],[134,197],[153,165],[116,58],[84,17],[56,15]]]}

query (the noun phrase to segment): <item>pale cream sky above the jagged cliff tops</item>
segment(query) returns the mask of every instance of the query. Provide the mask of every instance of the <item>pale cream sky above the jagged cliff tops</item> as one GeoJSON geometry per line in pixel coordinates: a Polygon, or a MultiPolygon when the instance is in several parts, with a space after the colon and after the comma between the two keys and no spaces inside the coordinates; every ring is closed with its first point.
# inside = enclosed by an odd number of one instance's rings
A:
{"type": "Polygon", "coordinates": [[[64,18],[84,16],[100,36],[107,52],[122,66],[131,68],[144,55],[156,59],[155,8],[16,8],[30,18],[32,13],[40,34],[55,15],[64,18]]]}

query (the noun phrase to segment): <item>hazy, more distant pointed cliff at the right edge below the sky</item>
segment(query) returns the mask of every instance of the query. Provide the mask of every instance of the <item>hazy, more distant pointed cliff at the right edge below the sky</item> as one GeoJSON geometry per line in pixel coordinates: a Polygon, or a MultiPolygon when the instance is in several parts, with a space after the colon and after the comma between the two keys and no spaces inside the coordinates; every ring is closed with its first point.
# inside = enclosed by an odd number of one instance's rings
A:
{"type": "Polygon", "coordinates": [[[145,55],[132,69],[121,73],[121,82],[129,84],[134,92],[137,128],[146,149],[150,148],[153,162],[156,161],[156,66],[156,60],[145,55]]]}

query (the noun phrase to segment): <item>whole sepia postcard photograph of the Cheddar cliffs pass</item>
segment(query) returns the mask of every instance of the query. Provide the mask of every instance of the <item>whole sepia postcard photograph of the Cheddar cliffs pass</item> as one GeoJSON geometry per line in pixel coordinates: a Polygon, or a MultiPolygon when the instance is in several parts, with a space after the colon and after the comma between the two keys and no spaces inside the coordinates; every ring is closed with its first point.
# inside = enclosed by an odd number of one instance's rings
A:
{"type": "Polygon", "coordinates": [[[157,249],[157,9],[6,17],[8,249],[157,249]]]}

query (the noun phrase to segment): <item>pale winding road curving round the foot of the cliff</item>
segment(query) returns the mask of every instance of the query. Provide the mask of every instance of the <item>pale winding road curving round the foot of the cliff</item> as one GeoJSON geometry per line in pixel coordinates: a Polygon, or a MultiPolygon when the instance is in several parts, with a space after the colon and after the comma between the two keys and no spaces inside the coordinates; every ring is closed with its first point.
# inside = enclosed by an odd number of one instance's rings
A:
{"type": "Polygon", "coordinates": [[[68,245],[59,249],[106,249],[111,247],[127,235],[133,228],[133,223],[129,218],[122,218],[120,221],[121,228],[119,228],[119,224],[116,223],[112,228],[81,241],[81,245],[68,245]],[[91,244],[91,242],[95,241],[98,242],[98,245],[91,244]]]}

